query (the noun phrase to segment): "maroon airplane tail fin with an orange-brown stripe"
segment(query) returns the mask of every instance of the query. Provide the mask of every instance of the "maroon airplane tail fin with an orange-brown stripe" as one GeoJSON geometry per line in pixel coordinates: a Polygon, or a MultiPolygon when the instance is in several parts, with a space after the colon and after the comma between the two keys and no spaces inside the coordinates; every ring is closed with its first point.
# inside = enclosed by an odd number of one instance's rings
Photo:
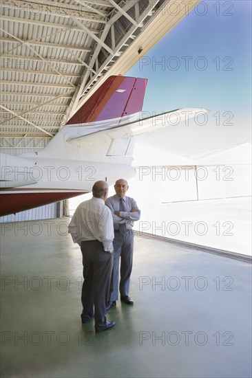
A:
{"type": "MultiPolygon", "coordinates": [[[[123,118],[142,111],[147,79],[110,76],[67,125],[123,118]]],[[[118,122],[120,123],[120,121],[118,122]]]]}

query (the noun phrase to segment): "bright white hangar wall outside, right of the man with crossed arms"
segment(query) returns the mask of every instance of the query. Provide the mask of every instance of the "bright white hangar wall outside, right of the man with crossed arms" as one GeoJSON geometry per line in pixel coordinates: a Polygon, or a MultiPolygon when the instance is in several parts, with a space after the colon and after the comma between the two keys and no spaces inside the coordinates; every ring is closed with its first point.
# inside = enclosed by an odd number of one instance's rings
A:
{"type": "Polygon", "coordinates": [[[137,166],[132,197],[150,203],[251,196],[251,164],[137,166]]]}

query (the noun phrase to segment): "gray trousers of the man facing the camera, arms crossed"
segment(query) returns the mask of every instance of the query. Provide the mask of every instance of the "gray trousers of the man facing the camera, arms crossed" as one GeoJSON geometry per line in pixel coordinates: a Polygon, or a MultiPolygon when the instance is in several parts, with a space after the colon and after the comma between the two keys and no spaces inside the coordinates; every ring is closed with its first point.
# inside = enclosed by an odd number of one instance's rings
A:
{"type": "Polygon", "coordinates": [[[114,233],[114,265],[112,270],[109,300],[118,300],[119,265],[120,265],[120,296],[129,295],[129,280],[132,273],[134,232],[128,230],[125,235],[114,233]]]}

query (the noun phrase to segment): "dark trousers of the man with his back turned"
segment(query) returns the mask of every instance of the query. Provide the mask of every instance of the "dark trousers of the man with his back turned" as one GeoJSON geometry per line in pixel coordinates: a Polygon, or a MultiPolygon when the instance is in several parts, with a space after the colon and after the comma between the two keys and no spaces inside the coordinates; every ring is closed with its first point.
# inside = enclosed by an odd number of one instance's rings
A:
{"type": "Polygon", "coordinates": [[[103,243],[98,240],[81,243],[83,255],[83,287],[81,302],[84,319],[94,315],[95,327],[106,323],[106,302],[113,267],[113,254],[105,252],[103,243]]]}

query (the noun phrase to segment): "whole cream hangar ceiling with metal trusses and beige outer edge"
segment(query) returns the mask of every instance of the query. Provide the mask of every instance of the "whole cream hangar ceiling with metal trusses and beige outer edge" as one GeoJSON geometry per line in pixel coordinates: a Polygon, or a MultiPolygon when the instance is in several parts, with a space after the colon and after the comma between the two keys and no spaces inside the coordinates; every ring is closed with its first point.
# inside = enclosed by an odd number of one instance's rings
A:
{"type": "Polygon", "coordinates": [[[0,148],[43,148],[199,0],[1,0],[0,148]]]}

